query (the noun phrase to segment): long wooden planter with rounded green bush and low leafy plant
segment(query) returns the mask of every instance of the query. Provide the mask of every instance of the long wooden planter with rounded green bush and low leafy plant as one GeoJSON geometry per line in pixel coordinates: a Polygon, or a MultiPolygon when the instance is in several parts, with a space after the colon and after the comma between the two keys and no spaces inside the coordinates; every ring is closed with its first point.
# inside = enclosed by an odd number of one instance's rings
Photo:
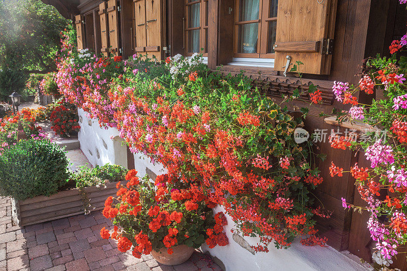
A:
{"type": "Polygon", "coordinates": [[[107,164],[71,173],[64,149],[48,139],[20,140],[1,152],[0,196],[12,197],[19,226],[100,210],[127,172],[107,164]]]}

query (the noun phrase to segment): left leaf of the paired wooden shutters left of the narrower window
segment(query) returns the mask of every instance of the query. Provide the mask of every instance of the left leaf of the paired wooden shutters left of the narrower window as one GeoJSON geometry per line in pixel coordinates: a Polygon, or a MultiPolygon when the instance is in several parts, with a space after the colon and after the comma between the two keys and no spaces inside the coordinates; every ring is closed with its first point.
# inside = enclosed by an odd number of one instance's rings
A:
{"type": "Polygon", "coordinates": [[[146,51],[146,0],[133,0],[134,2],[134,29],[136,45],[134,51],[146,51]]]}

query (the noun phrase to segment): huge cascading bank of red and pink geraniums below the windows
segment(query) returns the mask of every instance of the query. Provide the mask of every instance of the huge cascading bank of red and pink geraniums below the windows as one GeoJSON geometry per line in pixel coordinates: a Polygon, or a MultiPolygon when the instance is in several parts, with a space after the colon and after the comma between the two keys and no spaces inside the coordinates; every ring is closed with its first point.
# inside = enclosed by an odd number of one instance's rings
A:
{"type": "MultiPolygon", "coordinates": [[[[141,55],[130,62],[98,57],[72,44],[65,34],[56,76],[62,94],[102,127],[117,128],[133,153],[163,164],[168,178],[202,195],[185,202],[187,209],[202,200],[223,206],[236,232],[260,236],[255,251],[267,252],[270,242],[287,247],[296,237],[304,245],[325,245],[313,216],[328,215],[313,206],[310,193],[323,180],[309,163],[312,143],[293,137],[302,119],[253,89],[247,77],[211,73],[197,54],[157,65],[141,55]]],[[[316,89],[311,94],[314,103],[321,100],[316,89]]],[[[115,208],[106,216],[116,219],[115,208]]],[[[144,237],[126,238],[136,246],[144,237]]]]}

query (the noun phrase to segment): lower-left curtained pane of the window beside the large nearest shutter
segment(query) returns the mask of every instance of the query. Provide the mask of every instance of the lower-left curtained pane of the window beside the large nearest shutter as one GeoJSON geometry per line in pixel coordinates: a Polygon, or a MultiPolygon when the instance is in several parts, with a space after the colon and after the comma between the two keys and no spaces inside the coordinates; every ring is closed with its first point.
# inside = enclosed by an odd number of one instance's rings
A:
{"type": "Polygon", "coordinates": [[[257,53],[258,23],[239,25],[238,53],[257,53]]]}

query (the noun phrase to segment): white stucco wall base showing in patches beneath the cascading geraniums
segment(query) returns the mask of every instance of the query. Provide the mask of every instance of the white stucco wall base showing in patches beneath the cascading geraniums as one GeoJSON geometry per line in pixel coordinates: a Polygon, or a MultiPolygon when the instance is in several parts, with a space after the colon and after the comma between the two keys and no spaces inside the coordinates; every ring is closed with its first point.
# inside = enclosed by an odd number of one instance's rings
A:
{"type": "MultiPolygon", "coordinates": [[[[103,129],[99,127],[96,119],[89,119],[83,110],[79,109],[80,132],[78,139],[80,147],[93,166],[106,163],[119,164],[127,167],[126,146],[120,143],[119,131],[114,128],[103,129]],[[115,138],[116,140],[112,140],[115,138]],[[104,142],[104,143],[103,143],[104,142]],[[99,155],[98,155],[99,153],[99,155]]],[[[146,174],[146,168],[156,175],[163,174],[166,170],[161,165],[154,165],[143,154],[134,155],[135,169],[139,176],[146,174]]],[[[224,211],[222,207],[216,207],[214,212],[224,211]]],[[[225,232],[229,238],[229,245],[216,246],[209,249],[206,244],[202,245],[204,252],[209,252],[217,257],[225,265],[226,271],[353,271],[369,270],[362,266],[356,256],[354,259],[336,251],[331,247],[319,246],[307,247],[300,242],[293,242],[288,249],[276,249],[273,244],[269,246],[269,252],[252,254],[232,237],[230,230],[235,228],[233,221],[227,217],[225,232]]],[[[257,237],[244,237],[249,245],[258,243],[257,237]]]]}

